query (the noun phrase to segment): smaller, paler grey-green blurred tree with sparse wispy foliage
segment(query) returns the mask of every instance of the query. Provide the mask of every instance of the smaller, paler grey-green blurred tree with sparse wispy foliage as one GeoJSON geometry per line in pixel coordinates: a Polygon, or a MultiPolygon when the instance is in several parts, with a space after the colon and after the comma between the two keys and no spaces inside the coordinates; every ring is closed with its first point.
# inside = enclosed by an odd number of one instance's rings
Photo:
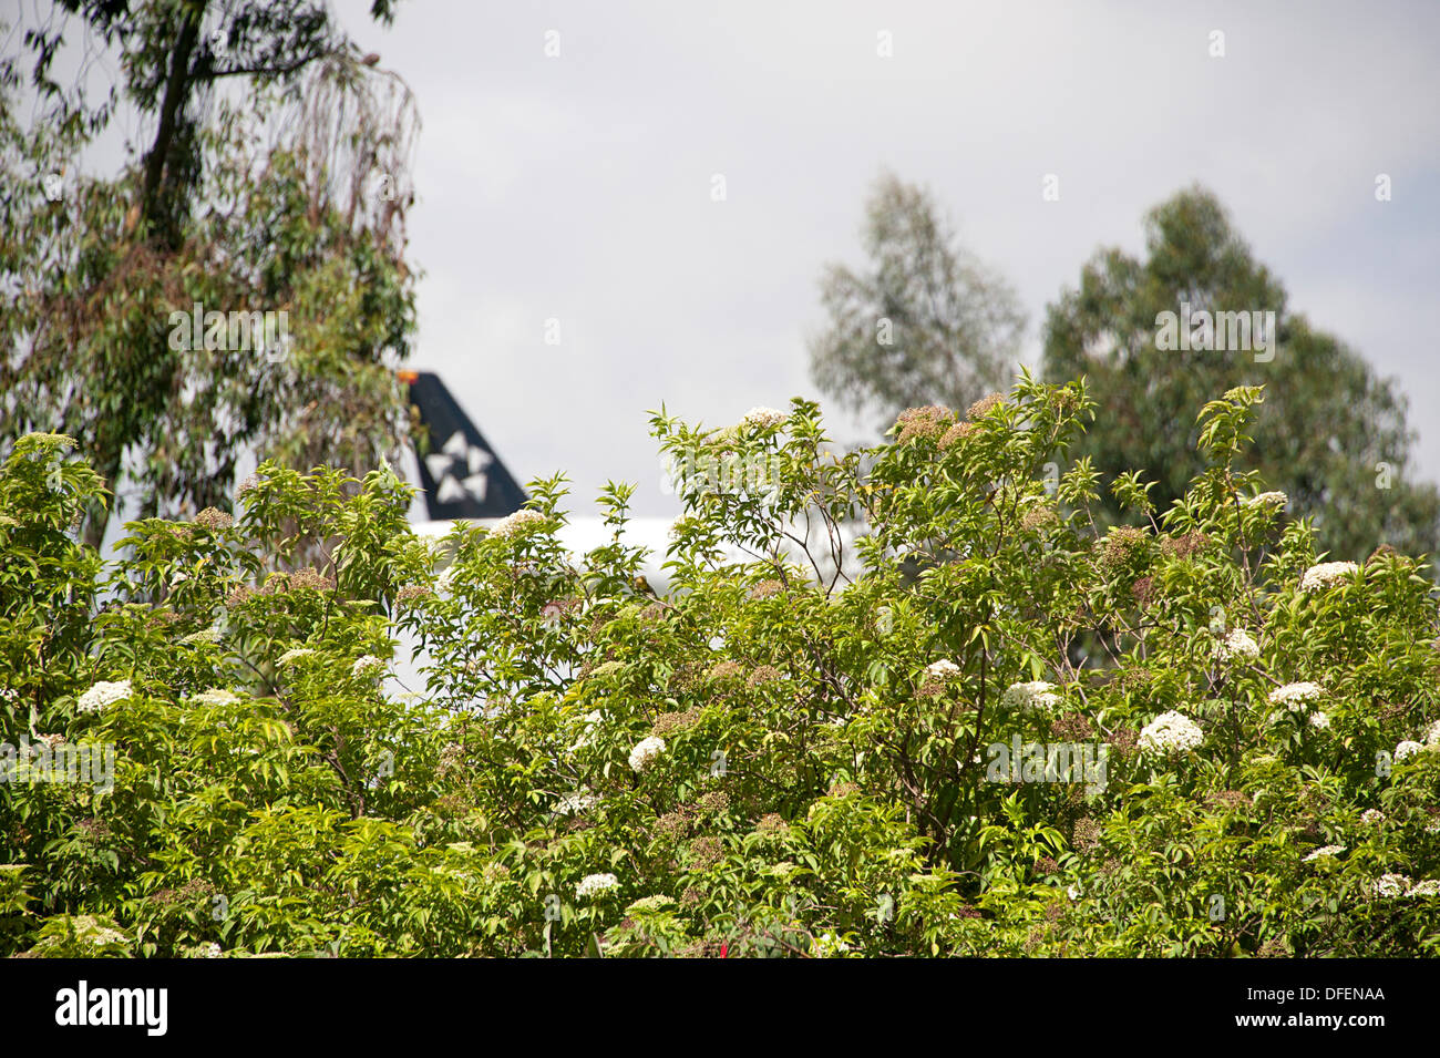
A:
{"type": "Polygon", "coordinates": [[[933,196],[881,176],[863,239],[870,271],[832,263],[821,279],[829,322],[809,343],[815,384],[883,428],[907,407],[968,407],[1008,386],[1025,317],[933,196]]]}

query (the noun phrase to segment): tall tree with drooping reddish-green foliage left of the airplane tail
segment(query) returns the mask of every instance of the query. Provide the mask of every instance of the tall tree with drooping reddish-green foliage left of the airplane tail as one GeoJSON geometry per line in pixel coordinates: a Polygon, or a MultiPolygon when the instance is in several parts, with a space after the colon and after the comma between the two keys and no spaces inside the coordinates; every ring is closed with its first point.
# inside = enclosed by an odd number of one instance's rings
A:
{"type": "MultiPolygon", "coordinates": [[[[389,23],[390,0],[372,16],[389,23]]],[[[63,0],[23,40],[29,69],[0,65],[0,445],[79,439],[143,517],[226,507],[246,449],[356,472],[395,455],[416,278],[405,83],[308,0],[63,0]],[[96,102],[107,56],[121,73],[96,102]],[[84,176],[121,104],[147,145],[84,176]],[[288,327],[196,348],[171,314],[197,302],[288,327]]],[[[91,508],[91,544],[107,520],[91,508]]]]}

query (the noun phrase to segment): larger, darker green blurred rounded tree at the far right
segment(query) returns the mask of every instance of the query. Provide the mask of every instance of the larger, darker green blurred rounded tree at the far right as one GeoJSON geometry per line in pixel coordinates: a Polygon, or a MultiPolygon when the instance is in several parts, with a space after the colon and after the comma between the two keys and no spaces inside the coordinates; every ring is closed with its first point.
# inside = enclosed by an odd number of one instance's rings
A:
{"type": "MultiPolygon", "coordinates": [[[[1362,559],[1380,544],[1410,554],[1437,547],[1434,485],[1405,478],[1414,438],[1407,400],[1339,338],[1286,309],[1280,282],[1254,259],[1224,207],[1202,189],[1146,216],[1146,259],[1097,253],[1079,289],[1047,312],[1044,379],[1084,374],[1100,406],[1071,453],[1107,476],[1143,468],[1165,510],[1200,472],[1194,409],[1210,393],[1264,384],[1247,469],[1282,489],[1296,517],[1313,518],[1322,550],[1362,559]],[[1277,341],[1253,351],[1158,347],[1162,312],[1273,311],[1277,341]]],[[[1113,499],[1109,515],[1119,520],[1113,499]]]]}

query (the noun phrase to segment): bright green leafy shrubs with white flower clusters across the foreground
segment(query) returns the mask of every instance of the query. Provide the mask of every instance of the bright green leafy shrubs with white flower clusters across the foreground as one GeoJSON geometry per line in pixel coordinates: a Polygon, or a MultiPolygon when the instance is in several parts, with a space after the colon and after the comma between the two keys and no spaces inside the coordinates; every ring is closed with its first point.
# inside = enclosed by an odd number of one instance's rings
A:
{"type": "Polygon", "coordinates": [[[1433,586],[1384,547],[1319,561],[1238,469],[1259,402],[1202,410],[1171,510],[1116,479],[1136,524],[1109,531],[1090,465],[1053,472],[1083,383],[916,409],[847,455],[804,400],[661,413],[674,459],[779,468],[683,485],[664,597],[629,489],[576,556],[559,479],[436,546],[387,471],[265,465],[233,520],[132,523],[102,564],[71,533],[95,475],[24,438],[4,741],[111,744],[115,774],[0,785],[0,946],[1433,953],[1433,586]]]}

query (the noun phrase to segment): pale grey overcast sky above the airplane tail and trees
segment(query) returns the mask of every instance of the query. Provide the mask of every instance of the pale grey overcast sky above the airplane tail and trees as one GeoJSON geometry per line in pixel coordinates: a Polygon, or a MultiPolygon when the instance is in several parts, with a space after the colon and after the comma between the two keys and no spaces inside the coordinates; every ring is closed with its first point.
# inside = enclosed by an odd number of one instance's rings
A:
{"type": "MultiPolygon", "coordinates": [[[[818,396],[816,282],[864,263],[883,168],[1015,284],[1030,363],[1099,246],[1138,253],[1145,210],[1208,186],[1290,309],[1400,379],[1440,475],[1440,4],[426,0],[390,30],[367,4],[338,12],[423,119],[412,366],[586,512],[606,478],[639,484],[638,514],[677,510],[647,409],[724,425],[818,396]]],[[[825,404],[838,440],[870,435],[825,404]]]]}

